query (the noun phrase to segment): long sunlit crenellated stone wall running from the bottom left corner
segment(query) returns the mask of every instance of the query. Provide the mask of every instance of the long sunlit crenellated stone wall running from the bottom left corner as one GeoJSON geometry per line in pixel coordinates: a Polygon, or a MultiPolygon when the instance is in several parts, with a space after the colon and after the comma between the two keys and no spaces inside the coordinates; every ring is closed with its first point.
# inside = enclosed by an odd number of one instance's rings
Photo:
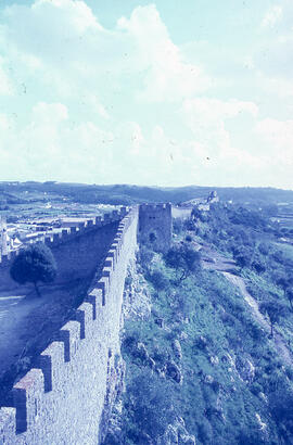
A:
{"type": "Polygon", "coordinates": [[[124,281],[137,246],[137,209],[119,224],[87,301],[56,341],[13,389],[14,408],[0,409],[0,444],[100,442],[104,407],[120,390],[119,330],[124,281]],[[15,430],[17,433],[15,433],[15,430]]]}

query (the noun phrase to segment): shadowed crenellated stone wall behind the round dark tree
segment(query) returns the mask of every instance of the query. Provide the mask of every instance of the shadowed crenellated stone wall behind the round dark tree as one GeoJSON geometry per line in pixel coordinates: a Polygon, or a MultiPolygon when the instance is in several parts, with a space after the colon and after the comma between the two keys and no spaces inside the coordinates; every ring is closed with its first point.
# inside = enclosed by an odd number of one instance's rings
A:
{"type": "MultiPolygon", "coordinates": [[[[125,208],[123,212],[125,213],[125,208]]],[[[105,214],[104,219],[97,217],[94,223],[88,220],[87,224],[80,224],[78,229],[72,227],[69,230],[64,229],[62,233],[43,237],[41,240],[52,250],[58,264],[58,276],[53,284],[91,276],[97,265],[102,263],[115,237],[120,218],[122,216],[114,211],[112,214],[105,214]]],[[[15,255],[16,253],[12,252],[1,258],[0,291],[24,289],[10,277],[9,271],[15,255]]]]}

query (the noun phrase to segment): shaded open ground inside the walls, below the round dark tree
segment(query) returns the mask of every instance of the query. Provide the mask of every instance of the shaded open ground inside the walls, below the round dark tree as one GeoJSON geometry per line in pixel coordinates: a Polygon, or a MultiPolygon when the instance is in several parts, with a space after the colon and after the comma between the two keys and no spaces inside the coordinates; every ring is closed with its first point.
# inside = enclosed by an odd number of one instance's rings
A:
{"type": "MultiPolygon", "coordinates": [[[[35,357],[52,341],[71,316],[74,301],[90,280],[66,287],[43,287],[41,298],[34,289],[25,293],[0,294],[0,402],[2,403],[16,377],[31,367],[35,357]]],[[[85,290],[86,290],[85,289],[85,290]]]]}

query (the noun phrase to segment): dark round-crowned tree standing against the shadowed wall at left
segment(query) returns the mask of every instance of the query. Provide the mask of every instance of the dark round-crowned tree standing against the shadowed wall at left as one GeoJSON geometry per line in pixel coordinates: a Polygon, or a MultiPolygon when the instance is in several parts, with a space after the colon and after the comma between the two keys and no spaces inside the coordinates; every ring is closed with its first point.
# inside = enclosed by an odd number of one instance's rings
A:
{"type": "Polygon", "coordinates": [[[37,295],[41,296],[38,282],[49,283],[56,277],[56,263],[51,250],[43,243],[22,250],[11,266],[10,275],[20,284],[34,283],[37,295]]]}

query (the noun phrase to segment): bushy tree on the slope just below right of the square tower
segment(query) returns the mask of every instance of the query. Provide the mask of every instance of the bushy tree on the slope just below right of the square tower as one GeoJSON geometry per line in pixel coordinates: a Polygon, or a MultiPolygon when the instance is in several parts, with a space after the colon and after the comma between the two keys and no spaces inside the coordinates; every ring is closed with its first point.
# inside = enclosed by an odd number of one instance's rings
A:
{"type": "Polygon", "coordinates": [[[165,255],[166,265],[176,269],[180,275],[179,283],[200,267],[200,253],[186,243],[175,244],[165,255]]]}

